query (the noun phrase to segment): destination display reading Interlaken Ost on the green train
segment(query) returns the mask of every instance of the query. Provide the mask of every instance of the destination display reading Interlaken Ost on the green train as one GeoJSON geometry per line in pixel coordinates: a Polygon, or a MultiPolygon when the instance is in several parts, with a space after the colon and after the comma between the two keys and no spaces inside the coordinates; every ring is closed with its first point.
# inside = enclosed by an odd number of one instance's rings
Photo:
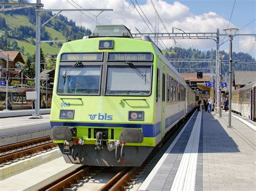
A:
{"type": "Polygon", "coordinates": [[[153,61],[151,53],[109,53],[110,61],[153,61]]]}

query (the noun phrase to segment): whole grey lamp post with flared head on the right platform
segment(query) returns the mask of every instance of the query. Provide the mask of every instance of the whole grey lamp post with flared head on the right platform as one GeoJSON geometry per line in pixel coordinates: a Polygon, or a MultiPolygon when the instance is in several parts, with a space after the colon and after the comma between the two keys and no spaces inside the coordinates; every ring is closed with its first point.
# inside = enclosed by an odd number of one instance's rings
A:
{"type": "Polygon", "coordinates": [[[234,37],[234,34],[238,31],[238,29],[230,28],[230,29],[224,29],[226,34],[228,35],[228,38],[230,40],[230,64],[229,64],[229,79],[230,79],[230,85],[228,86],[228,128],[232,128],[231,126],[231,96],[232,96],[232,40],[234,37]]]}

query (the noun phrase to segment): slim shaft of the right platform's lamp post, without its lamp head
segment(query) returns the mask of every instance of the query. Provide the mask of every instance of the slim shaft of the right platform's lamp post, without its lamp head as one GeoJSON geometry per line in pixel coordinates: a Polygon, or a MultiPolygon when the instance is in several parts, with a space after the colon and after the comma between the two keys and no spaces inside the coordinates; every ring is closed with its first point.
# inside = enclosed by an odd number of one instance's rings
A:
{"type": "Polygon", "coordinates": [[[228,36],[230,38],[230,67],[229,67],[229,78],[230,78],[230,86],[228,87],[228,128],[232,128],[231,126],[231,112],[232,112],[232,107],[231,107],[231,96],[232,96],[232,40],[233,40],[233,35],[230,34],[228,36]]]}

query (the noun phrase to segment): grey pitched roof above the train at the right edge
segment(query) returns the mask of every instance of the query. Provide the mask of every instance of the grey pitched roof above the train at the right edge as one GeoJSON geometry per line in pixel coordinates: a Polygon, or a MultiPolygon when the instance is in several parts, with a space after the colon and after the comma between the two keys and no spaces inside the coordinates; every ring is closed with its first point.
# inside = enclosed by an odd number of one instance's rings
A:
{"type": "Polygon", "coordinates": [[[256,71],[234,71],[235,85],[245,85],[256,81],[256,71]]]}

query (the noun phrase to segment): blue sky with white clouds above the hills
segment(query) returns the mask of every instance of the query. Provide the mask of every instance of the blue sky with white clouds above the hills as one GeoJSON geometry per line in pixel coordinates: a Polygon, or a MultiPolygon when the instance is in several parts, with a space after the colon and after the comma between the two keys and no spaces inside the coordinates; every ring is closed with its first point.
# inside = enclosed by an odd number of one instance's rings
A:
{"type": "MultiPolygon", "coordinates": [[[[35,3],[33,0],[31,3],[35,3]]],[[[112,12],[105,11],[97,17],[99,24],[124,24],[132,33],[137,33],[137,28],[140,32],[150,32],[150,24],[147,25],[139,16],[139,13],[134,8],[143,12],[151,25],[156,26],[159,22],[157,31],[166,32],[156,16],[151,0],[41,0],[45,9],[113,9],[112,12]],[[133,5],[133,4],[134,5],[133,5]],[[138,4],[139,5],[138,5],[138,4]],[[78,6],[79,5],[79,6],[78,6]],[[140,10],[142,9],[143,12],[140,10]]],[[[255,0],[152,0],[158,14],[163,20],[167,30],[172,32],[172,27],[176,27],[185,32],[216,32],[220,30],[221,34],[225,34],[223,29],[238,28],[237,34],[256,34],[256,1],[255,0]],[[233,13],[232,13],[233,11],[233,13]]],[[[62,15],[76,21],[77,25],[84,26],[93,31],[96,25],[96,15],[99,12],[62,12],[62,15]],[[89,17],[87,17],[87,16],[89,17]]],[[[174,29],[174,32],[180,32],[174,29]]],[[[233,52],[245,52],[256,58],[256,46],[254,36],[235,36],[233,39],[233,52]]],[[[220,50],[228,53],[229,45],[227,37],[221,36],[220,50]]],[[[197,48],[201,51],[216,49],[216,44],[213,40],[177,40],[176,46],[183,48],[197,48]]],[[[164,40],[160,42],[160,48],[174,47],[173,40],[164,40]]]]}

